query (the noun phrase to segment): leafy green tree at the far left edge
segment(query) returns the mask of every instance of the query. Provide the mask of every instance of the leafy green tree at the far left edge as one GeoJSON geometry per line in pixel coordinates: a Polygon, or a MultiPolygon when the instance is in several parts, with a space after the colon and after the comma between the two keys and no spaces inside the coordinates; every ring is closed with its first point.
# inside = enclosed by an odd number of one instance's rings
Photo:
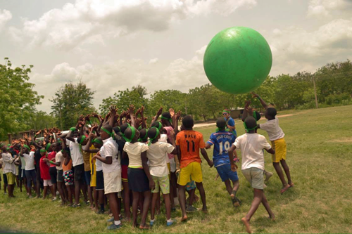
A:
{"type": "Polygon", "coordinates": [[[35,105],[40,104],[34,84],[28,82],[28,74],[33,67],[11,67],[11,61],[5,58],[5,65],[0,65],[0,138],[4,140],[8,133],[28,129],[27,119],[35,112],[35,105]]]}

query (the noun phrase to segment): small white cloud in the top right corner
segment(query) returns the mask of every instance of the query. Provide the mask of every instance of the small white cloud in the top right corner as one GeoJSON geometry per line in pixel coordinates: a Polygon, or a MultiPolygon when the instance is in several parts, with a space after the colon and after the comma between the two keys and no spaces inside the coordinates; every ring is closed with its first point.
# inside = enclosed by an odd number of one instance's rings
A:
{"type": "Polygon", "coordinates": [[[308,3],[308,16],[326,17],[331,11],[343,10],[351,4],[348,0],[310,0],[308,3]]]}

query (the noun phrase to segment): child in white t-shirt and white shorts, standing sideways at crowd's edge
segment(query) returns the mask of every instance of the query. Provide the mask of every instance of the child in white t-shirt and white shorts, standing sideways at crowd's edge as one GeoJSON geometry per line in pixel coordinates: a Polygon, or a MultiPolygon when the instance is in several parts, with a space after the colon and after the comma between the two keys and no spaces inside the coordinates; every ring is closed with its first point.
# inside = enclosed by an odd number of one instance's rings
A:
{"type": "MultiPolygon", "coordinates": [[[[115,117],[115,108],[111,108],[111,118],[115,117]]],[[[113,128],[109,124],[101,127],[101,140],[103,140],[103,147],[101,147],[99,154],[92,157],[92,160],[102,162],[104,190],[108,197],[113,218],[108,221],[113,221],[108,230],[121,228],[120,214],[118,208],[118,193],[121,192],[121,165],[120,154],[118,151],[118,144],[113,140],[113,128]]]]}

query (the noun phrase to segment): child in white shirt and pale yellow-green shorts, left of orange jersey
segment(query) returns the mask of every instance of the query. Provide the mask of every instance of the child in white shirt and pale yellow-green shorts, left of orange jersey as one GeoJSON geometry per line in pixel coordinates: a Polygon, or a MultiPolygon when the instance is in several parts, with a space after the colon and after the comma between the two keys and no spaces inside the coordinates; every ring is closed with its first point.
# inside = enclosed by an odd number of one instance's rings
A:
{"type": "MultiPolygon", "coordinates": [[[[161,190],[163,193],[166,209],[166,226],[171,226],[173,221],[171,219],[171,203],[170,203],[170,180],[169,180],[169,170],[168,164],[166,163],[165,154],[177,153],[175,149],[175,141],[173,137],[170,138],[172,145],[169,143],[158,141],[161,137],[160,131],[156,127],[152,127],[148,131],[149,146],[146,152],[146,157],[149,159],[149,169],[150,174],[155,182],[155,189],[152,190],[153,198],[151,202],[151,226],[154,223],[154,214],[156,208],[156,201],[158,200],[158,193],[161,190]]],[[[173,197],[172,197],[173,198],[173,197]]]]}

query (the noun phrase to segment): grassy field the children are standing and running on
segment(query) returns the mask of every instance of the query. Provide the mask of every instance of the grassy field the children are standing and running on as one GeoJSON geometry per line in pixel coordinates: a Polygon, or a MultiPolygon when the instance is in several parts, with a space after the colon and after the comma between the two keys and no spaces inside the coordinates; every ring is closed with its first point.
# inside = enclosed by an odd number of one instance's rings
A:
{"type": "MultiPolygon", "coordinates": [[[[352,134],[349,129],[352,105],[299,112],[280,112],[291,116],[279,119],[287,141],[287,163],[295,187],[280,195],[281,183],[275,174],[267,183],[268,197],[276,221],[270,221],[263,206],[254,214],[251,226],[255,233],[352,233],[352,134]]],[[[264,122],[265,119],[260,119],[264,122]]],[[[259,123],[260,123],[259,122],[259,123]]],[[[197,129],[204,139],[215,126],[197,129]]],[[[238,134],[244,127],[237,122],[238,134]]],[[[265,134],[259,130],[260,134],[265,134]]],[[[213,150],[208,150],[213,155],[213,150]]],[[[271,157],[265,152],[265,168],[275,172],[271,157]]],[[[180,208],[172,213],[178,220],[173,227],[165,226],[165,212],[156,219],[153,229],[142,231],[124,223],[118,233],[244,233],[240,222],[249,210],[253,191],[239,170],[237,193],[241,207],[234,209],[216,169],[203,163],[204,187],[208,214],[189,215],[180,223],[180,208]]],[[[3,185],[1,185],[2,188],[3,185]]],[[[59,202],[27,199],[15,190],[15,199],[0,193],[0,229],[31,233],[109,233],[108,215],[94,214],[87,207],[60,207],[59,202]]],[[[201,203],[195,204],[201,207],[201,203]]],[[[149,220],[149,219],[148,219],[149,220]]],[[[116,233],[116,231],[111,231],[116,233]]]]}

